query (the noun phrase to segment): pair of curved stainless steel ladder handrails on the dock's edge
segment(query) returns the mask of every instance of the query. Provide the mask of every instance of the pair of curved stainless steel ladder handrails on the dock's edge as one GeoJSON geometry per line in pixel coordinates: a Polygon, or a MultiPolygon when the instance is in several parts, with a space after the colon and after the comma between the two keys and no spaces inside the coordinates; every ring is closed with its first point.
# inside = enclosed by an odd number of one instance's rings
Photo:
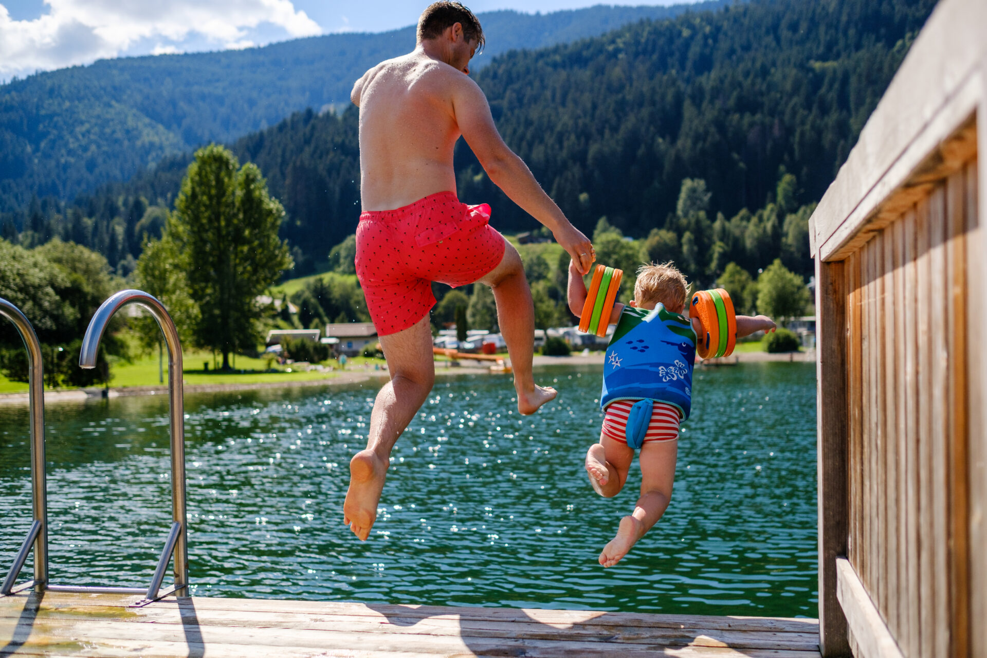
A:
{"type": "MultiPolygon", "coordinates": [[[[79,353],[79,366],[82,368],[95,368],[97,354],[99,352],[100,340],[106,331],[110,320],[116,311],[126,304],[139,304],[150,312],[151,316],[158,323],[165,335],[165,342],[168,345],[168,397],[169,397],[169,420],[171,435],[171,461],[172,461],[172,526],[168,533],[165,547],[158,559],[158,564],[151,578],[150,586],[144,590],[139,587],[87,587],[75,585],[56,585],[48,582],[47,576],[47,520],[46,509],[46,488],[44,482],[44,425],[43,425],[43,375],[41,370],[40,344],[38,336],[31,323],[24,317],[17,307],[0,299],[0,314],[5,315],[14,321],[14,324],[21,330],[21,335],[25,343],[29,344],[29,364],[31,371],[31,414],[32,414],[32,482],[34,485],[35,500],[35,521],[28,539],[18,552],[14,561],[14,566],[7,574],[0,596],[9,595],[13,591],[14,582],[24,566],[24,562],[31,552],[31,544],[35,544],[35,579],[30,583],[19,587],[19,590],[34,586],[36,591],[44,589],[59,592],[88,592],[88,593],[114,593],[114,594],[145,594],[145,598],[133,604],[135,606],[144,605],[156,599],[160,599],[169,594],[176,593],[189,587],[189,548],[188,548],[188,512],[186,508],[186,469],[185,469],[185,402],[183,399],[182,382],[182,344],[179,339],[175,323],[168,314],[164,305],[153,296],[140,290],[122,290],[103,303],[96,311],[86,335],[82,340],[82,350],[79,353]],[[26,329],[22,329],[26,328],[26,329]],[[30,336],[30,338],[25,336],[30,336]],[[34,349],[34,351],[32,351],[34,349]],[[37,372],[36,372],[37,371],[37,372]],[[39,461],[38,461],[39,460],[39,461]],[[174,556],[175,583],[172,587],[162,592],[161,583],[164,579],[168,563],[174,556]]],[[[188,593],[188,592],[187,592],[188,593]]]]}

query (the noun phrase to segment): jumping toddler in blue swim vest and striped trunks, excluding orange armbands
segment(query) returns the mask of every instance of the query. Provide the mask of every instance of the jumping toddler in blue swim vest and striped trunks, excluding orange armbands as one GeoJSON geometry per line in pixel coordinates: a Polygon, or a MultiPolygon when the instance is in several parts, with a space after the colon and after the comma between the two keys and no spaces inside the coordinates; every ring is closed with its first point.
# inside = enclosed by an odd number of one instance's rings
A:
{"type": "MultiPolygon", "coordinates": [[[[582,313],[586,285],[575,264],[569,265],[569,309],[582,313]]],[[[671,262],[638,270],[634,301],[615,304],[609,323],[617,325],[603,364],[600,408],[605,411],[600,442],[586,453],[589,483],[601,496],[620,493],[634,460],[626,427],[636,425],[650,406],[641,444],[641,496],[634,513],[621,519],[617,536],[600,553],[600,564],[613,566],[657,523],[672,495],[679,422],[689,417],[696,336],[703,335],[698,318],[685,311],[688,286],[671,262]],[[641,401],[644,405],[635,404],[641,401]],[[632,411],[632,407],[635,407],[632,411]]],[[[602,322],[602,320],[601,320],[602,322]]],[[[765,316],[736,317],[737,337],[774,331],[765,316]]],[[[639,435],[640,436],[640,435],[639,435]]]]}

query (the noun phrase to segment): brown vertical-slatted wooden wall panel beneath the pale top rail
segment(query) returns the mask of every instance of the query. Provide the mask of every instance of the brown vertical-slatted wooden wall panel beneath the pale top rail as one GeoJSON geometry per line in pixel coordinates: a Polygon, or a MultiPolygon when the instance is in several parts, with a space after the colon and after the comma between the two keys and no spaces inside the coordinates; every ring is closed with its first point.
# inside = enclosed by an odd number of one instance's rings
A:
{"type": "MultiPolygon", "coordinates": [[[[847,557],[906,656],[967,656],[976,159],[843,261],[847,557]]],[[[844,606],[846,608],[846,606],[844,606]]],[[[979,621],[983,622],[983,620],[979,621]]],[[[851,623],[851,628],[853,623],[851,623]]],[[[851,646],[860,653],[855,638],[851,646]]]]}

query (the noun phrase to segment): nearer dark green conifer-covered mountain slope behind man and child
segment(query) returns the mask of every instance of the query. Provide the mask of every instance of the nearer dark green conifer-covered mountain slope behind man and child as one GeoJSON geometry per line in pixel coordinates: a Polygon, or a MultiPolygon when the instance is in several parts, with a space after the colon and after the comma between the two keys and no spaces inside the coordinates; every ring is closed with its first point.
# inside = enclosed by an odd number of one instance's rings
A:
{"type": "MultiPolygon", "coordinates": [[[[507,144],[587,234],[606,216],[627,236],[650,235],[648,254],[687,259],[693,275],[715,278],[730,260],[754,272],[785,249],[787,264],[807,272],[798,208],[832,181],[934,5],[754,0],[506,53],[477,81],[507,144]],[[705,181],[693,210],[676,207],[686,179],[705,181]]],[[[261,167],[287,210],[295,274],[353,232],[355,110],[299,112],[233,149],[261,167]]],[[[457,149],[464,201],[490,202],[500,230],[536,226],[465,144],[457,149]]],[[[111,264],[136,255],[141,232],[161,219],[138,197],[169,204],[188,161],[171,158],[74,207],[36,204],[24,220],[32,240],[78,240],[111,264]]]]}

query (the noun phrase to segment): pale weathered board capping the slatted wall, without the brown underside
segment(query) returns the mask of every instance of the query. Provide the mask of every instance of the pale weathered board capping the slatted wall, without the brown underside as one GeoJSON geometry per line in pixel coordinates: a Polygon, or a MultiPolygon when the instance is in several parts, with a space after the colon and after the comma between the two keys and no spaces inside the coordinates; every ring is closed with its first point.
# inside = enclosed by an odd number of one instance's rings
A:
{"type": "Polygon", "coordinates": [[[819,204],[820,251],[855,210],[871,214],[980,103],[984,83],[975,71],[987,56],[985,24],[980,0],[947,0],[933,12],[819,204]],[[923,93],[916,96],[916,89],[923,93]],[[862,207],[869,194],[873,205],[862,207]]]}

